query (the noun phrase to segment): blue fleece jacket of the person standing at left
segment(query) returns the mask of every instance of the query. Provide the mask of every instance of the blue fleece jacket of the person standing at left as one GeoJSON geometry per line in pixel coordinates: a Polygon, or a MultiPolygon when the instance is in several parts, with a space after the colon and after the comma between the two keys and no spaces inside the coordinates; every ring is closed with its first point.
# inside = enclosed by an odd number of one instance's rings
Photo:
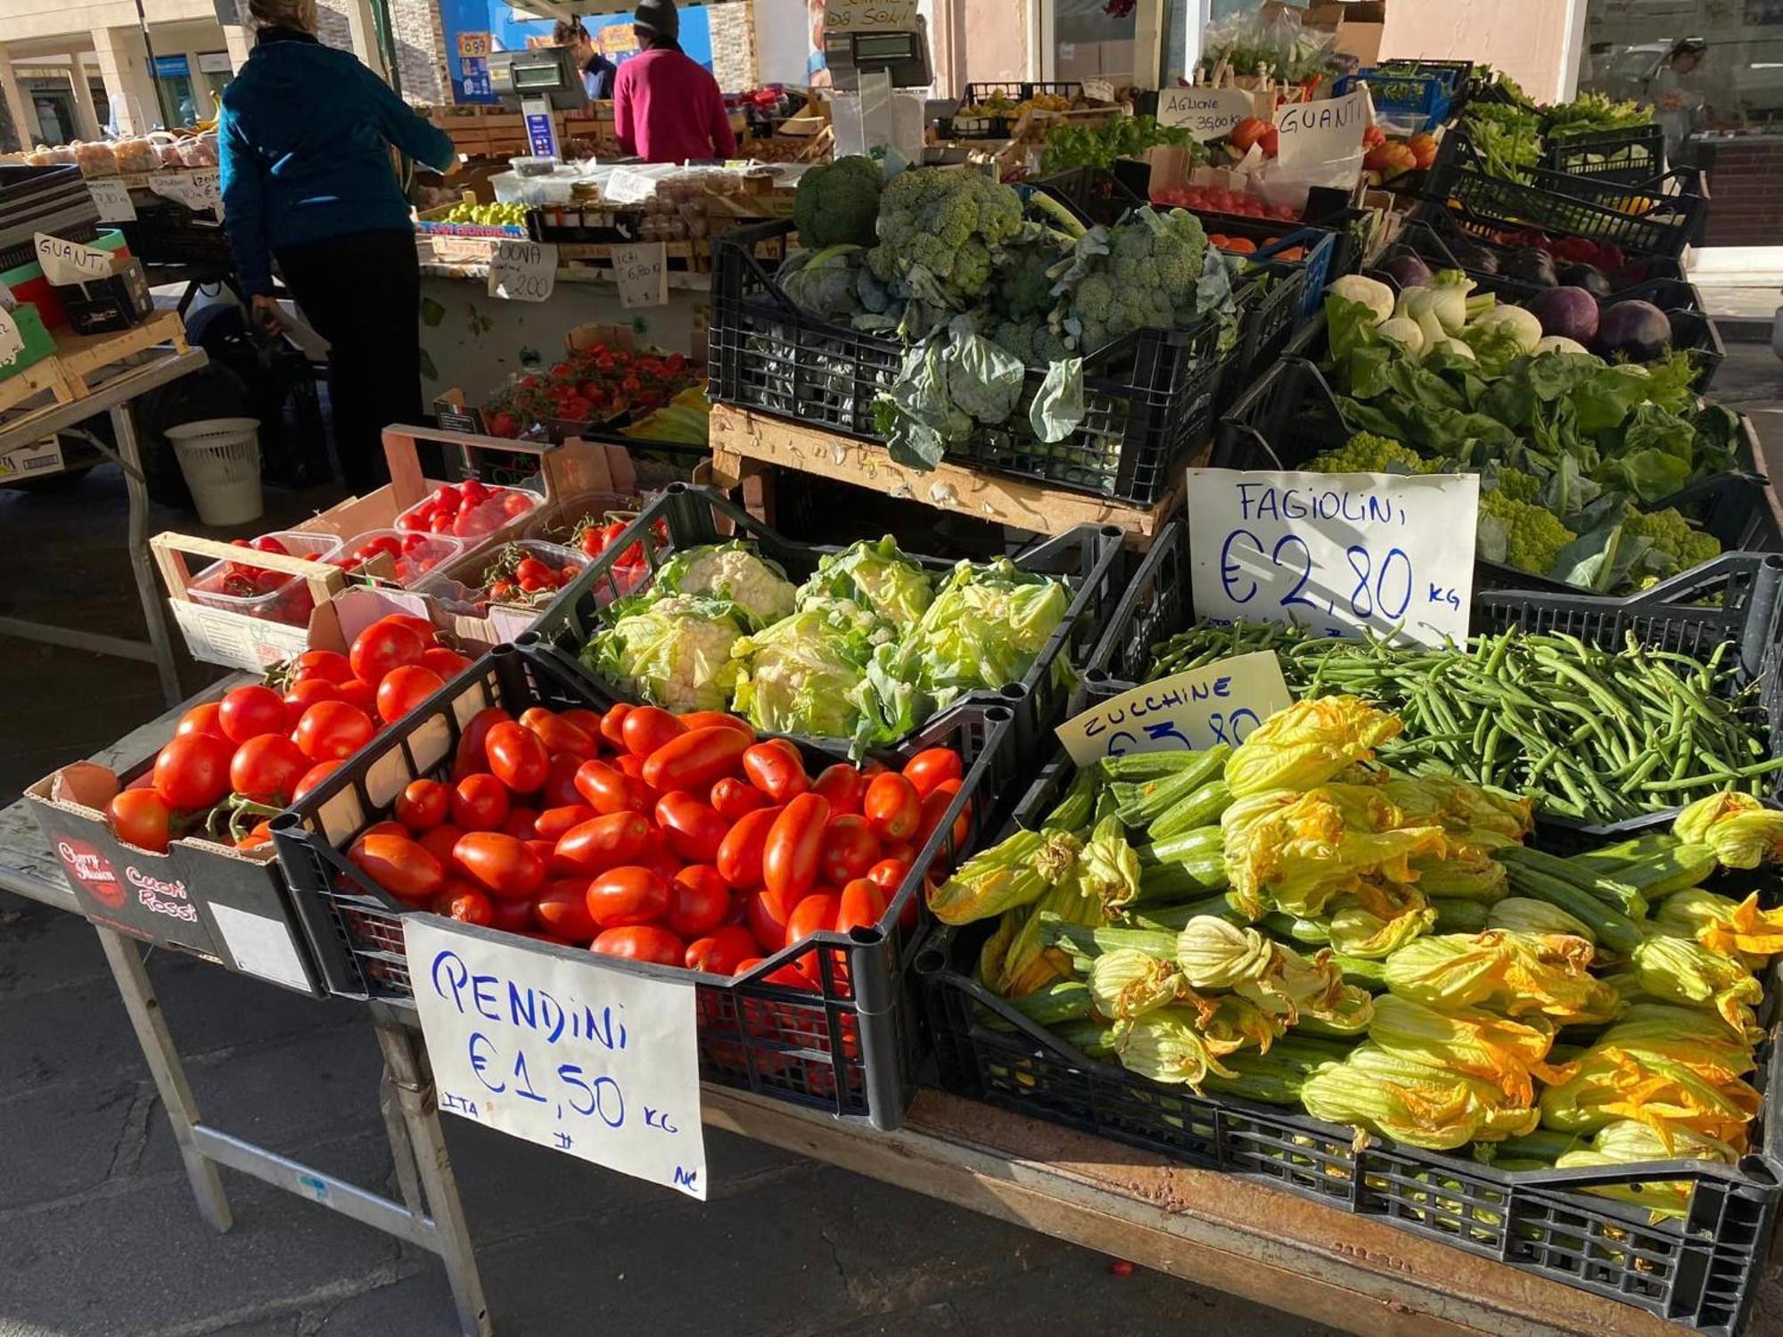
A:
{"type": "Polygon", "coordinates": [[[223,228],[250,296],[280,246],[410,226],[387,144],[448,168],[451,137],[349,52],[262,32],[218,118],[223,228]]]}

